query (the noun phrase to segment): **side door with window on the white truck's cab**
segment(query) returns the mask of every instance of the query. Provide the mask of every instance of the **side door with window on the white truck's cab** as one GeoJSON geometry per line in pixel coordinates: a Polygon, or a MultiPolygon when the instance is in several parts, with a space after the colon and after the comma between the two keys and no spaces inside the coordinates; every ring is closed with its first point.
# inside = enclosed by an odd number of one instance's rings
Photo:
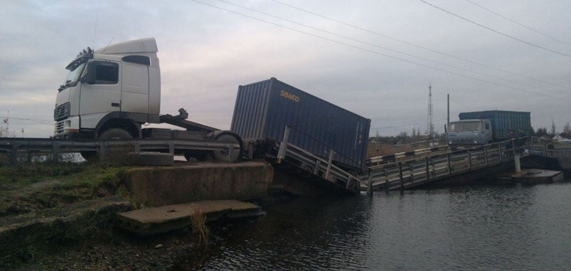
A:
{"type": "Polygon", "coordinates": [[[81,86],[79,115],[81,128],[95,128],[105,115],[120,111],[120,63],[92,60],[87,69],[86,80],[81,86]]]}

